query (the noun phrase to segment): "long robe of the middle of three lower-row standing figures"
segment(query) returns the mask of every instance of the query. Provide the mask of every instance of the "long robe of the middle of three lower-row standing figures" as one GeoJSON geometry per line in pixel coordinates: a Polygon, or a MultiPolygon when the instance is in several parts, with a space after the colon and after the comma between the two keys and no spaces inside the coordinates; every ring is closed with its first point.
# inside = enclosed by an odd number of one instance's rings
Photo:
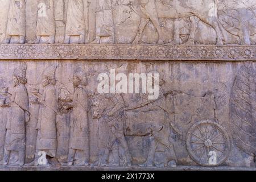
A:
{"type": "Polygon", "coordinates": [[[38,122],[38,139],[36,150],[48,152],[47,155],[55,157],[57,149],[57,93],[52,85],[48,85],[43,93],[40,118],[38,122]]]}

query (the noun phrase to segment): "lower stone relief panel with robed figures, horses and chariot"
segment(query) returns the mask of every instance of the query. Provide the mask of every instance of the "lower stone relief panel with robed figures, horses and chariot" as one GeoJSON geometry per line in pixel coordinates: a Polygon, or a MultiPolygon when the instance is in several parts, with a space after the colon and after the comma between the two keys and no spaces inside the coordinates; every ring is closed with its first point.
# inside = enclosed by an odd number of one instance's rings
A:
{"type": "Polygon", "coordinates": [[[3,166],[255,167],[254,62],[1,61],[1,68],[3,166]],[[99,93],[100,73],[146,73],[151,81],[158,73],[159,97],[99,93]]]}

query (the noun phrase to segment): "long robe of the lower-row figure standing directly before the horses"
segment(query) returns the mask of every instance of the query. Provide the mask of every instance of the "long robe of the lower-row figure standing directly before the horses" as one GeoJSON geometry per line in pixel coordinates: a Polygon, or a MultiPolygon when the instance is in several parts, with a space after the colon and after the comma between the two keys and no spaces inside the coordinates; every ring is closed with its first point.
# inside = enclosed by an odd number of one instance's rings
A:
{"type": "Polygon", "coordinates": [[[85,89],[76,89],[73,103],[70,148],[89,150],[88,94],[85,89]]]}

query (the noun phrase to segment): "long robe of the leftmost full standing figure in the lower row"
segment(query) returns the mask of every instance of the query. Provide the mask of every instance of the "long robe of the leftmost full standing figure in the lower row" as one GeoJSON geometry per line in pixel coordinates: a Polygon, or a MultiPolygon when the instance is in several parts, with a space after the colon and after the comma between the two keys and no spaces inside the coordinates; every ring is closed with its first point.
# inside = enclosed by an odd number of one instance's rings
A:
{"type": "Polygon", "coordinates": [[[20,84],[14,90],[11,117],[6,125],[5,148],[8,151],[25,151],[26,111],[28,111],[28,93],[26,86],[20,84]]]}

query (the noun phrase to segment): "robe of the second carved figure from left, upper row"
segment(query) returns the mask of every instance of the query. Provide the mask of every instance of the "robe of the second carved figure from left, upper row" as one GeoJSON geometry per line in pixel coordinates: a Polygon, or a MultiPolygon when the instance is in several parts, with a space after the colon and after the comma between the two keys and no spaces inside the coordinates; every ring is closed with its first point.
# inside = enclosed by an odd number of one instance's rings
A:
{"type": "Polygon", "coordinates": [[[38,21],[36,36],[55,36],[55,0],[38,1],[38,21]]]}

